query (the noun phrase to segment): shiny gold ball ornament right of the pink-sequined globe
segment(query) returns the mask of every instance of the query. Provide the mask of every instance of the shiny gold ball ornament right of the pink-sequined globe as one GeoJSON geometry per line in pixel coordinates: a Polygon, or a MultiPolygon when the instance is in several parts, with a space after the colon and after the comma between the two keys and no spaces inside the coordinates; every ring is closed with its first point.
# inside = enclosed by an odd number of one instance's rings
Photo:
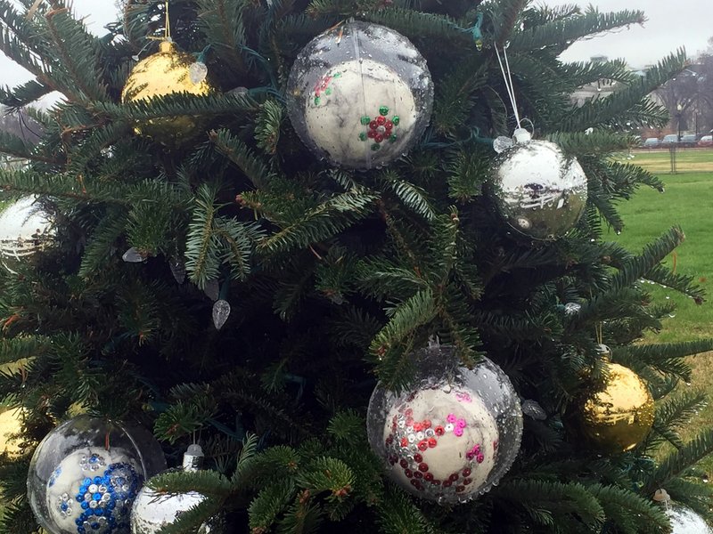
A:
{"type": "Polygon", "coordinates": [[[643,380],[631,369],[612,363],[604,383],[583,401],[580,425],[598,449],[621,452],[643,441],[653,417],[652,394],[643,380]]]}

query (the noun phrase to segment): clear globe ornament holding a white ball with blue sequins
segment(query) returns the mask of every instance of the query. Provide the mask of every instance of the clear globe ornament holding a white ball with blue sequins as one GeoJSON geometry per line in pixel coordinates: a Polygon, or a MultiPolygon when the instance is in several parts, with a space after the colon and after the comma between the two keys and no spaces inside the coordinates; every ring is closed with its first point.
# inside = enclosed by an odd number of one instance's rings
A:
{"type": "Polygon", "coordinates": [[[29,505],[53,534],[128,534],[138,490],[164,469],[159,442],[145,429],[75,417],[37,447],[29,465],[29,505]]]}

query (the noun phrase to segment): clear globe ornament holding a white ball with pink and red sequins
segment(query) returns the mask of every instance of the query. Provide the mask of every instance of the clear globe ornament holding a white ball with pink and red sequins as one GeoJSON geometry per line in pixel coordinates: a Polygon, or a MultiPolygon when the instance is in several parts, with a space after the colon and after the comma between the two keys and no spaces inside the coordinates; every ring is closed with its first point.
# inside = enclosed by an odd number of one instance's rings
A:
{"type": "Polygon", "coordinates": [[[520,450],[522,412],[509,378],[487,358],[460,367],[449,346],[414,354],[419,376],[397,395],[377,385],[367,432],[389,477],[439,504],[490,490],[520,450]]]}

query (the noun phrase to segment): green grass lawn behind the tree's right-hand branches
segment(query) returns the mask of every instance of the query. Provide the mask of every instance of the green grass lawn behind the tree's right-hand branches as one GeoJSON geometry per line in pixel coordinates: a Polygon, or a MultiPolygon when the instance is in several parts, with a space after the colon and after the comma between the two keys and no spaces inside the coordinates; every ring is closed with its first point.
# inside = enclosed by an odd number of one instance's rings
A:
{"type": "MultiPolygon", "coordinates": [[[[708,293],[708,301],[696,305],[692,299],[669,289],[651,286],[656,299],[672,299],[678,306],[674,317],[664,321],[664,329],[647,341],[676,342],[713,337],[713,150],[681,150],[677,154],[677,174],[670,173],[668,150],[635,153],[630,163],[635,163],[657,174],[666,184],[666,192],[639,190],[629,202],[619,206],[626,226],[621,235],[612,231],[616,239],[632,252],[658,237],[677,224],[684,230],[686,240],[675,255],[666,259],[669,267],[676,262],[676,271],[694,277],[708,293]]],[[[690,386],[709,392],[711,404],[691,425],[693,436],[701,428],[713,426],[713,353],[700,354],[689,359],[693,367],[690,386]]],[[[713,457],[703,467],[713,476],[713,457]]]]}

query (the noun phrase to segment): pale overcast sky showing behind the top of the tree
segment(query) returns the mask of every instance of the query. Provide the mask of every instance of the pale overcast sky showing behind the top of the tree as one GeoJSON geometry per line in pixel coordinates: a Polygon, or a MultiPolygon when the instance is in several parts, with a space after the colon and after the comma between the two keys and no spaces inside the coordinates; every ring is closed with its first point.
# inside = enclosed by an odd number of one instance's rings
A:
{"type": "MultiPolygon", "coordinates": [[[[579,4],[582,0],[537,0],[549,5],[579,4]]],[[[115,18],[114,0],[74,0],[76,11],[86,16],[89,29],[102,34],[103,26],[115,18]]],[[[704,51],[713,36],[713,0],[592,0],[602,12],[640,9],[649,19],[643,27],[633,26],[619,32],[594,37],[574,44],[563,54],[565,61],[582,61],[593,55],[610,59],[624,58],[636,68],[655,63],[679,46],[690,56],[704,51]]],[[[6,85],[29,80],[29,74],[0,53],[0,73],[6,85]]]]}

